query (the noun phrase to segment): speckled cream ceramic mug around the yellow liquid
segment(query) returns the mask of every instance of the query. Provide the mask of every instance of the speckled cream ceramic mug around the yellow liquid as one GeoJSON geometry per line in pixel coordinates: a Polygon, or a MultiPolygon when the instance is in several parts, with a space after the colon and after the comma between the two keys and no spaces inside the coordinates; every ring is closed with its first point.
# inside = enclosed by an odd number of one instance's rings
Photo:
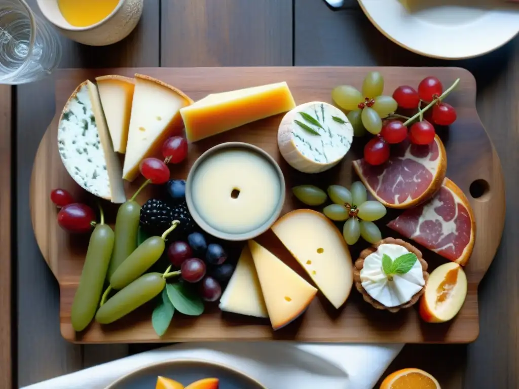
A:
{"type": "Polygon", "coordinates": [[[76,27],[67,22],[58,0],[37,0],[37,3],[43,15],[66,37],[84,45],[106,46],[126,38],[133,31],[141,18],[144,0],[119,0],[110,15],[87,27],[76,27]]]}

